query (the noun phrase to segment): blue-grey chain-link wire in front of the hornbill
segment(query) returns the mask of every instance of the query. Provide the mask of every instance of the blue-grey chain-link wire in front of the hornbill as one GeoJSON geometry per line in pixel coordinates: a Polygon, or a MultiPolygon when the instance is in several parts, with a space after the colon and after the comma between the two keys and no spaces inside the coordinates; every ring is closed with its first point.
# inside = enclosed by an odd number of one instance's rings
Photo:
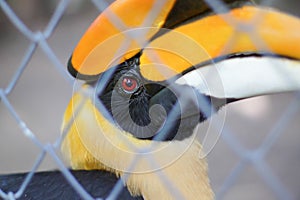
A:
{"type": "MultiPolygon", "coordinates": [[[[108,3],[104,0],[91,0],[91,2],[100,12],[102,12],[108,6],[108,3]]],[[[217,13],[228,10],[226,5],[222,1],[205,0],[205,2],[209,6],[211,6],[211,8],[217,13]]],[[[271,1],[268,1],[266,4],[271,5],[272,3],[270,2],[271,1]]],[[[68,168],[63,164],[63,162],[61,161],[61,159],[56,153],[56,150],[59,149],[61,141],[63,140],[65,134],[67,133],[67,130],[63,130],[62,136],[59,137],[53,144],[51,143],[43,144],[36,137],[34,131],[30,130],[30,127],[28,127],[26,123],[23,121],[23,119],[19,116],[18,110],[16,110],[16,108],[10,103],[8,98],[11,92],[14,91],[15,86],[18,84],[20,77],[29,66],[29,61],[32,59],[32,55],[37,50],[37,48],[42,49],[44,54],[52,62],[57,72],[61,74],[61,76],[64,79],[66,79],[66,84],[72,85],[74,83],[74,81],[67,74],[65,66],[60,62],[55,51],[53,51],[50,45],[48,44],[48,39],[51,37],[54,30],[56,29],[69,3],[70,0],[60,0],[46,28],[44,30],[39,30],[34,32],[30,30],[26,26],[26,24],[16,15],[14,10],[9,6],[9,4],[5,0],[0,0],[0,7],[4,12],[4,14],[9,18],[10,22],[19,30],[19,32],[30,41],[30,44],[26,50],[23,60],[19,65],[18,69],[15,71],[11,81],[9,82],[7,87],[0,88],[0,103],[4,105],[4,107],[9,111],[10,115],[14,118],[16,124],[21,129],[21,133],[24,136],[28,137],[30,141],[32,141],[32,145],[35,145],[40,149],[40,155],[37,157],[35,163],[33,163],[32,170],[26,176],[23,184],[20,186],[20,189],[17,192],[15,193],[4,192],[0,188],[0,197],[3,199],[17,199],[22,196],[22,194],[26,190],[26,187],[28,186],[32,177],[34,176],[34,173],[36,172],[36,170],[38,169],[42,161],[45,159],[46,155],[49,155],[53,159],[53,162],[56,164],[57,168],[61,171],[63,176],[67,179],[69,184],[77,191],[77,193],[83,199],[93,199],[93,197],[84,190],[84,188],[78,183],[76,178],[68,171],[68,168]]],[[[152,8],[153,11],[159,12],[164,4],[163,1],[157,0],[156,3],[154,3],[153,5],[154,5],[152,8]]],[[[155,15],[155,12],[149,14],[144,24],[147,25],[147,20],[148,21],[151,20],[150,18],[153,17],[152,14],[155,15]]],[[[127,28],[126,25],[122,22],[122,19],[119,19],[118,16],[116,16],[114,13],[110,12],[109,15],[112,23],[116,26],[116,28],[118,28],[119,30],[124,30],[127,28]]],[[[225,20],[232,26],[235,26],[237,30],[244,31],[244,32],[249,32],[250,30],[251,32],[250,36],[252,36],[252,39],[256,41],[259,47],[263,48],[265,46],[264,42],[261,41],[261,39],[256,37],[255,27],[254,27],[256,20],[259,20],[261,17],[263,16],[255,17],[253,23],[247,25],[249,27],[245,27],[239,24],[233,18],[230,17],[226,18],[225,20]]],[[[132,38],[133,36],[128,35],[128,37],[132,38]]],[[[143,37],[143,35],[141,37],[143,37]]],[[[234,38],[231,38],[231,40],[228,42],[227,47],[229,48],[230,44],[232,43],[234,43],[234,38]]],[[[126,47],[127,45],[123,44],[123,47],[120,48],[126,49],[126,47]]],[[[104,82],[107,82],[108,79],[109,77],[108,78],[106,77],[104,82]]],[[[87,98],[89,98],[89,95],[86,96],[87,98]]],[[[274,124],[273,129],[268,133],[267,137],[262,142],[261,146],[259,146],[254,150],[249,150],[246,147],[244,147],[243,144],[234,136],[235,134],[233,134],[233,131],[230,130],[230,127],[226,127],[226,126],[224,127],[222,131],[221,139],[228,144],[228,147],[233,152],[236,153],[236,155],[240,158],[240,161],[235,165],[235,167],[232,169],[230,174],[228,174],[228,177],[225,179],[221,188],[219,189],[219,191],[217,191],[217,197],[216,197],[217,199],[223,198],[226,192],[230,190],[232,185],[237,181],[239,176],[241,176],[243,170],[248,165],[254,166],[259,176],[262,177],[262,179],[265,181],[265,184],[272,189],[274,194],[279,199],[295,199],[294,194],[290,193],[290,191],[285,187],[284,183],[281,182],[281,180],[276,176],[276,174],[274,174],[271,167],[267,164],[267,162],[265,161],[265,155],[270,151],[271,147],[278,140],[279,136],[284,134],[284,130],[288,122],[290,121],[290,119],[293,118],[293,116],[297,112],[299,112],[300,110],[299,96],[300,95],[295,96],[294,101],[286,108],[286,111],[282,114],[278,122],[274,124]]],[[[76,108],[75,115],[81,109],[81,107],[82,105],[79,105],[79,107],[76,108]]],[[[71,124],[72,121],[69,122],[66,128],[67,129],[70,128],[71,124]]],[[[136,162],[138,162],[138,160],[135,159],[132,163],[132,166],[129,166],[129,169],[133,168],[136,162]]],[[[149,160],[149,163],[156,165],[156,161],[154,158],[149,160]]],[[[170,183],[170,181],[168,181],[168,176],[166,176],[165,174],[158,174],[158,176],[160,176],[161,179],[163,179],[163,182],[168,186],[167,188],[170,190],[171,193],[175,194],[177,198],[181,196],[180,192],[176,191],[176,188],[172,185],[172,183],[170,183]]],[[[123,180],[120,179],[120,181],[116,183],[116,186],[111,191],[111,194],[109,195],[108,199],[116,199],[118,197],[118,194],[123,186],[122,181],[126,180],[127,178],[128,175],[125,174],[122,177],[123,180]]],[[[101,199],[101,197],[98,197],[98,199],[101,199]]]]}

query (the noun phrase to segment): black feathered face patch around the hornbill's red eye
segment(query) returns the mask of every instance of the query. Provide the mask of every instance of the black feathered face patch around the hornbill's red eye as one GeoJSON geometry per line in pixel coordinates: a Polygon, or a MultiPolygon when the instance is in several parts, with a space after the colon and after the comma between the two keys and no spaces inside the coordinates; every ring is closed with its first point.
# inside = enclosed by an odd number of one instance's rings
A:
{"type": "MultiPolygon", "coordinates": [[[[213,112],[210,97],[174,81],[156,83],[145,80],[139,71],[139,56],[115,68],[105,89],[98,95],[99,100],[116,125],[139,139],[168,141],[189,137],[195,126],[213,112]],[[124,90],[124,78],[136,81],[134,91],[124,90]],[[205,112],[199,109],[199,102],[207,103],[205,112]]],[[[132,86],[131,82],[128,86],[132,86]]]]}

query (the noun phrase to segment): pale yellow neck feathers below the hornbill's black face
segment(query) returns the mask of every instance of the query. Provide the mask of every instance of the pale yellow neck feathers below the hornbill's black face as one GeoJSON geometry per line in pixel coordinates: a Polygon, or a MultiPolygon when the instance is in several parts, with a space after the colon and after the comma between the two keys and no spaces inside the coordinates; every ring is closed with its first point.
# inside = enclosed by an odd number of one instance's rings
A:
{"type": "MultiPolygon", "coordinates": [[[[63,127],[81,100],[81,95],[74,95],[63,127]]],[[[107,170],[117,176],[129,173],[125,181],[129,191],[145,199],[213,199],[207,162],[199,158],[200,151],[201,145],[192,137],[170,142],[138,140],[108,122],[90,100],[62,143],[73,169],[107,170]],[[148,151],[136,153],[145,148],[148,151]],[[136,158],[134,169],[128,171],[136,158]]]]}

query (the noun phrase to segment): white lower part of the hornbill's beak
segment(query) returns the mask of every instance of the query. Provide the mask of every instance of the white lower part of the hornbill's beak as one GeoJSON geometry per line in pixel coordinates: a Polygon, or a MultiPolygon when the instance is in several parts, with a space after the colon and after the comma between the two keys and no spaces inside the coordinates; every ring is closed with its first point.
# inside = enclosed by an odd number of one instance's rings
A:
{"type": "Polygon", "coordinates": [[[300,90],[300,61],[270,55],[235,57],[204,65],[177,80],[223,99],[300,90]]]}

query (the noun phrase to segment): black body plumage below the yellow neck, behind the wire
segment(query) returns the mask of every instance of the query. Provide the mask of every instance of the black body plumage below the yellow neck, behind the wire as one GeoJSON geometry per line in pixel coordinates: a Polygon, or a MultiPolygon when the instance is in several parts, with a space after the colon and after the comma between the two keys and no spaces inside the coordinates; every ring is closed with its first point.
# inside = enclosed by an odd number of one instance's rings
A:
{"type": "MultiPolygon", "coordinates": [[[[105,171],[71,171],[77,181],[94,198],[106,198],[118,178],[105,171]]],[[[4,192],[17,192],[27,173],[0,176],[0,189],[4,192]]],[[[82,199],[59,171],[37,172],[20,199],[82,199]]],[[[118,199],[143,199],[132,197],[124,187],[118,199]]]]}

